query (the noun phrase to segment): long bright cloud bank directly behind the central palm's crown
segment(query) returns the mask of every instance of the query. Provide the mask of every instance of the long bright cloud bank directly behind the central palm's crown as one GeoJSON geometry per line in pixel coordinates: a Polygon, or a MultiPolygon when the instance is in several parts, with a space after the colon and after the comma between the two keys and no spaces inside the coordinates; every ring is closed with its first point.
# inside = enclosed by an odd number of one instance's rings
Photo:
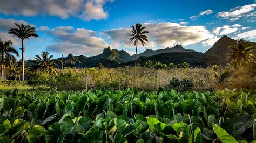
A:
{"type": "MultiPolygon", "coordinates": [[[[146,48],[165,48],[173,47],[176,44],[184,46],[196,44],[214,36],[204,26],[183,26],[178,23],[144,23],[146,30],[149,31],[147,36],[149,42],[146,42],[146,48]]],[[[129,44],[131,28],[118,28],[104,30],[100,32],[105,38],[109,39],[111,44],[117,43],[119,46],[134,47],[133,43],[129,44]]],[[[140,44],[139,47],[142,47],[140,44]]]]}

